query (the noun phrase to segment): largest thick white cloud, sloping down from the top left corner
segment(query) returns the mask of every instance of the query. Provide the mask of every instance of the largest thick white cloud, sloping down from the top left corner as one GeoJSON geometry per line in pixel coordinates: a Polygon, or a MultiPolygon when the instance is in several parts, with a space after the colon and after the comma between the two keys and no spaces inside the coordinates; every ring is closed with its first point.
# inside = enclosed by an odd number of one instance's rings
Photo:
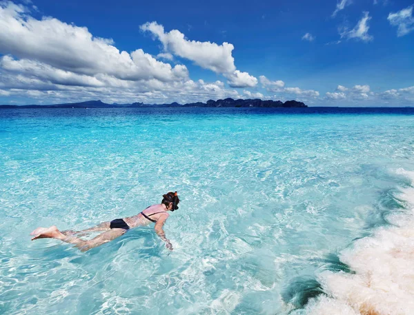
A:
{"type": "Polygon", "coordinates": [[[118,79],[161,81],[188,77],[184,65],[172,68],[141,49],[120,52],[112,39],[93,37],[87,28],[51,17],[34,19],[25,7],[11,2],[0,2],[0,54],[89,76],[103,73],[118,79]]]}

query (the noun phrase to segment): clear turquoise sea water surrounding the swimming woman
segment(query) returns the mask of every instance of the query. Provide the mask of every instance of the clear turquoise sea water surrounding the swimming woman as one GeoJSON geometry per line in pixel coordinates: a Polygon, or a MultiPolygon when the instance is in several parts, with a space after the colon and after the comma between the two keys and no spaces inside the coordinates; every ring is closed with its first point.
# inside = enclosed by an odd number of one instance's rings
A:
{"type": "Polygon", "coordinates": [[[414,111],[1,110],[0,313],[313,312],[340,299],[321,274],[410,213],[413,153],[414,111]],[[175,190],[173,252],[152,226],[86,253],[30,241],[175,190]]]}

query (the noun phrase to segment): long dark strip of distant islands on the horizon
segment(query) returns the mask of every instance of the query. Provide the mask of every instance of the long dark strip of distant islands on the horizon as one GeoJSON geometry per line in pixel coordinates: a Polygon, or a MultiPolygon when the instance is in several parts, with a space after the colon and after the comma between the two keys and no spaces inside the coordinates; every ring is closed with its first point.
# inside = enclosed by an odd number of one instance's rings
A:
{"type": "Polygon", "coordinates": [[[298,101],[262,101],[261,99],[210,99],[207,103],[165,103],[165,104],[107,104],[102,101],[86,101],[80,103],[66,103],[55,105],[0,105],[0,108],[307,108],[298,101]]]}

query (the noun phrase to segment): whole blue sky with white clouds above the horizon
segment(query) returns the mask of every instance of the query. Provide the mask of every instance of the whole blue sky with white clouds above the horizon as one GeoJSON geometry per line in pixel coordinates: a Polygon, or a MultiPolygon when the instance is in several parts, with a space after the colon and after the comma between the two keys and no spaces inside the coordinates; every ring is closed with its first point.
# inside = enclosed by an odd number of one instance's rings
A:
{"type": "Polygon", "coordinates": [[[414,0],[0,0],[0,104],[414,106],[414,0]]]}

